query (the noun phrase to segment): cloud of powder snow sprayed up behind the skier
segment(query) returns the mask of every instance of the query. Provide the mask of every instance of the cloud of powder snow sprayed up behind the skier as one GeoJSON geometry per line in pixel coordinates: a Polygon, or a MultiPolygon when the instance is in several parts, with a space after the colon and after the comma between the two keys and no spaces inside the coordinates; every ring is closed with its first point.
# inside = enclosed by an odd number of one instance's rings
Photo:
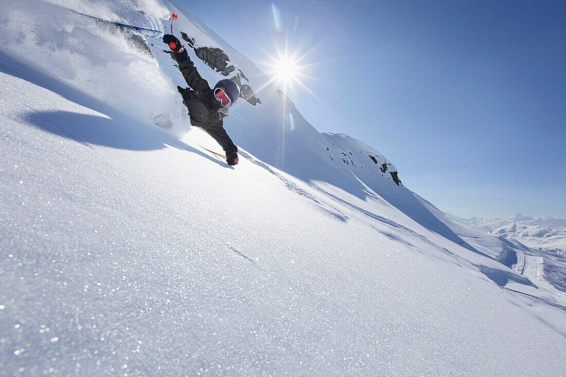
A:
{"type": "MultiPolygon", "coordinates": [[[[136,43],[135,37],[113,32],[63,7],[64,4],[2,0],[0,41],[3,52],[145,121],[163,113],[169,113],[174,121],[183,119],[175,85],[159,69],[149,49],[143,48],[141,40],[136,43]]],[[[78,11],[110,20],[120,19],[111,2],[79,4],[78,11]]],[[[156,24],[156,16],[144,16],[132,8],[134,5],[144,10],[144,14],[148,14],[148,10],[151,15],[168,14],[153,1],[136,1],[130,8],[126,7],[131,14],[124,17],[126,22],[147,27],[156,24]]]]}

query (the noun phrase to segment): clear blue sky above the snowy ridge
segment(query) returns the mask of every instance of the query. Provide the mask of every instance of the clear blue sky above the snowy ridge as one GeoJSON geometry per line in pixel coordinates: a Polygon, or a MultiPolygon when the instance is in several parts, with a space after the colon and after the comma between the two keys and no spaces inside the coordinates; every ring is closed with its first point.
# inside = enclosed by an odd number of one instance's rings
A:
{"type": "Polygon", "coordinates": [[[309,52],[305,118],[443,211],[566,218],[566,2],[183,3],[252,61],[309,52]]]}

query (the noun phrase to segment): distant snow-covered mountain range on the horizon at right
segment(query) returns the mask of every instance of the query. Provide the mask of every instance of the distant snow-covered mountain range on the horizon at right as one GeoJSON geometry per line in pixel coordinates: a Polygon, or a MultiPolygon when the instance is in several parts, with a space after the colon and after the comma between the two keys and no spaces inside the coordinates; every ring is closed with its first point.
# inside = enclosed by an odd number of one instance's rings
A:
{"type": "Polygon", "coordinates": [[[533,218],[520,213],[500,219],[452,217],[496,237],[516,239],[535,249],[566,253],[566,220],[564,219],[554,219],[551,216],[533,218]]]}

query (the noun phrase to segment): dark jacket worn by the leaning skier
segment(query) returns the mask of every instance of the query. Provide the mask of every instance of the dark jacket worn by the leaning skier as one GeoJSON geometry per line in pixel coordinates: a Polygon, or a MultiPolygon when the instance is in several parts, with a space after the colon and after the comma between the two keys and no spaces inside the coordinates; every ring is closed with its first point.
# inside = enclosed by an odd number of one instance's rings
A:
{"type": "Polygon", "coordinates": [[[232,152],[238,152],[238,147],[226,133],[222,121],[230,114],[228,108],[222,107],[220,102],[215,100],[214,91],[208,85],[207,80],[200,76],[190,58],[178,64],[179,70],[190,87],[185,89],[178,87],[178,89],[183,96],[183,103],[187,106],[188,115],[191,117],[191,125],[207,131],[224,149],[226,156],[232,152]]]}

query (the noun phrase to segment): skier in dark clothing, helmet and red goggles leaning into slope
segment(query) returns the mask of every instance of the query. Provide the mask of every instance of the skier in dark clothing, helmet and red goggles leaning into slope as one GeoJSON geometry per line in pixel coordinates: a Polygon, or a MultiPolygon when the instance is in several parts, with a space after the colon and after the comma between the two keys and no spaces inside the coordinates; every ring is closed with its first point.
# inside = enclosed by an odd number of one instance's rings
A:
{"type": "Polygon", "coordinates": [[[179,63],[179,70],[190,87],[183,89],[178,86],[177,89],[187,106],[191,125],[203,128],[220,144],[226,152],[228,165],[238,164],[238,147],[226,133],[222,121],[224,117],[230,115],[228,108],[240,95],[238,84],[224,79],[211,89],[207,80],[203,79],[196,70],[181,41],[170,34],[164,35],[163,41],[173,51],[173,57],[179,63]]]}

